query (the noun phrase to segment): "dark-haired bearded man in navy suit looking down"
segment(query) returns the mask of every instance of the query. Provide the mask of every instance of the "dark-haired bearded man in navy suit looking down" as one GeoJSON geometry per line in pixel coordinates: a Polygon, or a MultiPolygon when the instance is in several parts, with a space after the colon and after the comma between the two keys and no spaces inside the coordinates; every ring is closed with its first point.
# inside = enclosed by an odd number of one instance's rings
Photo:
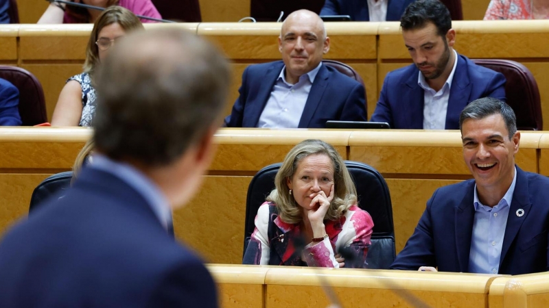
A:
{"type": "Polygon", "coordinates": [[[502,74],[454,51],[456,31],[443,3],[415,1],[400,25],[414,64],[386,75],[372,121],[394,129],[458,129],[459,114],[471,101],[505,101],[502,74]]]}

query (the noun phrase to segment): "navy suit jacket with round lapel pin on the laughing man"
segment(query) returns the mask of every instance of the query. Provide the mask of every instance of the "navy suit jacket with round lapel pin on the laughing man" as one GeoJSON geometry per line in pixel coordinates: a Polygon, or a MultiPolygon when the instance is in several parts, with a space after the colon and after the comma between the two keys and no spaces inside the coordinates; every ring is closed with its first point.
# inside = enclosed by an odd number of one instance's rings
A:
{"type": "MultiPolygon", "coordinates": [[[[473,179],[439,188],[393,269],[438,267],[467,272],[475,209],[473,179]]],[[[517,182],[505,228],[500,274],[545,272],[548,267],[549,178],[517,167],[517,182]],[[524,209],[518,217],[517,209],[524,209]]]]}

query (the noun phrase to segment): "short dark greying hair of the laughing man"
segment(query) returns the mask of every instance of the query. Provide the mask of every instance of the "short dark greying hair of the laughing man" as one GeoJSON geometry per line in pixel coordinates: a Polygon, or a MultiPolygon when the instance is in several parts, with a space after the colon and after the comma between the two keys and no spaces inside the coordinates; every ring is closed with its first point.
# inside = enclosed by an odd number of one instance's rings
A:
{"type": "Polygon", "coordinates": [[[509,140],[511,140],[517,132],[517,117],[515,116],[515,112],[504,101],[494,99],[493,97],[483,97],[482,99],[471,101],[459,116],[459,129],[461,130],[463,122],[469,118],[480,120],[493,114],[502,115],[507,132],[509,133],[509,140]]]}

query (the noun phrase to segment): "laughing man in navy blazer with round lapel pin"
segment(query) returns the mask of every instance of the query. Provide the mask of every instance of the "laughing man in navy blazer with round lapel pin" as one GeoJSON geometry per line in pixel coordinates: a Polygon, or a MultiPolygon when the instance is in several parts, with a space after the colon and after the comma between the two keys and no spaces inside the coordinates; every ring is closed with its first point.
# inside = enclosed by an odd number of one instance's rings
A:
{"type": "Polygon", "coordinates": [[[498,99],[477,99],[461,113],[460,128],[474,179],[434,192],[391,268],[513,275],[549,270],[549,178],[515,166],[515,113],[498,99]]]}

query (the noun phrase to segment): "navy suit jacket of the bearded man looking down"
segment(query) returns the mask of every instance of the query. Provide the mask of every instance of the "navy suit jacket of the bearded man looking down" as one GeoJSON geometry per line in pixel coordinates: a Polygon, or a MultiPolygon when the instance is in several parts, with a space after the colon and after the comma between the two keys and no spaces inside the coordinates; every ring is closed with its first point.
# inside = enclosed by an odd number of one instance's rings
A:
{"type": "MultiPolygon", "coordinates": [[[[417,84],[414,64],[388,73],[375,107],[373,122],[387,122],[393,129],[423,129],[423,88],[417,84]]],[[[505,77],[458,55],[448,108],[446,129],[459,129],[459,115],[471,101],[495,97],[505,101],[505,77]]]]}

